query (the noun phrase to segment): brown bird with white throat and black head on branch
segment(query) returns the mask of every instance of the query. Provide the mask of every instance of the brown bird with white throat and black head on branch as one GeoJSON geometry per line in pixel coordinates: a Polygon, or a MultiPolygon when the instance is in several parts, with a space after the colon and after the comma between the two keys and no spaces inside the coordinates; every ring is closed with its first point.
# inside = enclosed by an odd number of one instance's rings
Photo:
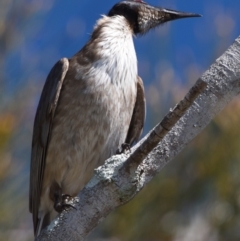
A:
{"type": "Polygon", "coordinates": [[[141,0],[118,2],[97,20],[80,51],[53,66],[33,127],[29,210],[35,237],[69,206],[95,168],[141,136],[146,101],[133,37],[199,16],[141,0]]]}

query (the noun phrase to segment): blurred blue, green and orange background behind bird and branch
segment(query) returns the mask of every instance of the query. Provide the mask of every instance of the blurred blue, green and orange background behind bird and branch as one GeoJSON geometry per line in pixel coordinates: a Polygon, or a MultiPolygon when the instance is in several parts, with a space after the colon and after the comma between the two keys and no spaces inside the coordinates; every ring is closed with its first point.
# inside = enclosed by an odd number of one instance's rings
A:
{"type": "MultiPolygon", "coordinates": [[[[202,18],[136,38],[147,133],[240,33],[240,1],[149,0],[202,18]]],[[[0,1],[0,241],[33,240],[28,211],[33,119],[48,72],[88,40],[114,0],[0,1]]],[[[240,100],[236,98],[88,241],[239,241],[240,100]]]]}

